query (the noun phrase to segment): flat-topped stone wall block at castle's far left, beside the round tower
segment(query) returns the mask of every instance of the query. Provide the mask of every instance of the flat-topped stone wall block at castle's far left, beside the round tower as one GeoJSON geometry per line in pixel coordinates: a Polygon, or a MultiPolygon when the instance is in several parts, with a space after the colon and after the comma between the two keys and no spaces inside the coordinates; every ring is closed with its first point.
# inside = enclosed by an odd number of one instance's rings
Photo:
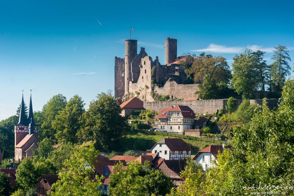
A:
{"type": "Polygon", "coordinates": [[[123,95],[124,95],[124,58],[114,57],[114,97],[122,98],[123,95]]]}

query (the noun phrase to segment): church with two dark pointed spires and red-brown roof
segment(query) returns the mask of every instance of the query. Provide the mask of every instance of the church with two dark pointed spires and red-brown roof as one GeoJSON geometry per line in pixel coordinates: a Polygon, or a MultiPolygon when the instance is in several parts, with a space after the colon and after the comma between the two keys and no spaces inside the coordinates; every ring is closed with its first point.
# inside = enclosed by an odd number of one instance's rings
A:
{"type": "Polygon", "coordinates": [[[21,103],[19,122],[14,126],[14,157],[22,160],[31,157],[38,147],[38,126],[34,123],[32,96],[30,96],[28,115],[25,114],[24,95],[21,103]]]}

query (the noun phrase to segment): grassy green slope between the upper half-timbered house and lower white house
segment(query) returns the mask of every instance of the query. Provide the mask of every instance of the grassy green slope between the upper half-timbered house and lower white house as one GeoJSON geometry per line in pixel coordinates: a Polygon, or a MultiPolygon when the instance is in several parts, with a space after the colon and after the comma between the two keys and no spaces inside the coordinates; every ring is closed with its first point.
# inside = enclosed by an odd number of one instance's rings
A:
{"type": "Polygon", "coordinates": [[[222,145],[223,141],[217,141],[206,138],[197,138],[186,135],[179,135],[173,133],[161,133],[161,132],[153,132],[153,131],[144,131],[144,130],[132,130],[125,135],[120,143],[120,149],[118,151],[126,151],[126,150],[148,150],[154,146],[154,144],[163,138],[171,137],[171,138],[181,138],[192,148],[192,154],[196,154],[199,149],[203,149],[208,145],[222,145]]]}

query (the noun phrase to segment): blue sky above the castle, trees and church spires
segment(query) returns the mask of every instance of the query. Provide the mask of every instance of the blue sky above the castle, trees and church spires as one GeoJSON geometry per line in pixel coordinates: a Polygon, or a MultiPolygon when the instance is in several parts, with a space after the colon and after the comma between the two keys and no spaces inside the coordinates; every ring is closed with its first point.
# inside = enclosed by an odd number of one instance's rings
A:
{"type": "MultiPolygon", "coordinates": [[[[34,110],[53,95],[81,96],[86,105],[114,89],[114,56],[124,39],[138,40],[164,63],[164,39],[178,55],[201,51],[228,62],[246,47],[279,44],[294,60],[292,0],[0,0],[0,120],[13,114],[24,89],[34,110]]],[[[293,64],[293,62],[291,62],[293,64]]]]}

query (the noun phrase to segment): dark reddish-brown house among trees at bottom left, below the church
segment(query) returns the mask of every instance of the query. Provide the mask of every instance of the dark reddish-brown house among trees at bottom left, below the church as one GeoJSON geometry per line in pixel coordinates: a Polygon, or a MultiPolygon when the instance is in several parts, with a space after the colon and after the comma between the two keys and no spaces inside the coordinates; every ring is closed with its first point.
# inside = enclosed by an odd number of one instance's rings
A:
{"type": "Polygon", "coordinates": [[[42,175],[36,185],[37,196],[47,196],[47,192],[51,192],[52,185],[58,180],[57,174],[42,175]]]}

